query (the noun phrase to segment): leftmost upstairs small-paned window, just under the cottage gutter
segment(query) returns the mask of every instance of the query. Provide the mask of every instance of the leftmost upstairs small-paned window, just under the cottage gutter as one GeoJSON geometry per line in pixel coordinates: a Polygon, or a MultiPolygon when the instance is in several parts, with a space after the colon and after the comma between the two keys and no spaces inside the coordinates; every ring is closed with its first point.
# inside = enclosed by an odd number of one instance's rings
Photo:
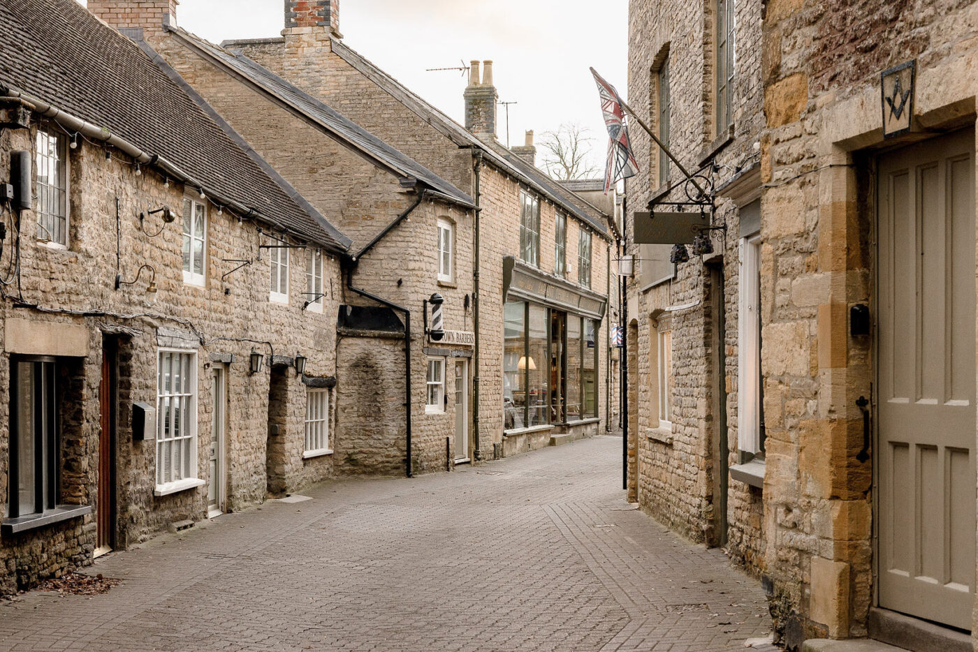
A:
{"type": "Polygon", "coordinates": [[[67,247],[67,136],[37,130],[37,239],[67,247]]]}

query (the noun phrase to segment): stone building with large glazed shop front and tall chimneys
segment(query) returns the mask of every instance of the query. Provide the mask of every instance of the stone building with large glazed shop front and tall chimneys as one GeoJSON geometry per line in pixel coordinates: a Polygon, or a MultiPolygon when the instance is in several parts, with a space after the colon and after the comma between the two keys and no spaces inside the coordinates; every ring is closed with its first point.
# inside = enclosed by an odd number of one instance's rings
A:
{"type": "MultiPolygon", "coordinates": [[[[609,410],[604,316],[614,289],[608,216],[538,170],[527,160],[531,148],[513,152],[497,141],[492,62],[472,62],[463,126],[350,49],[338,18],[335,2],[289,0],[281,37],[222,45],[472,197],[472,455],[601,432],[609,410]]],[[[441,355],[430,354],[429,366],[441,355]]]]}

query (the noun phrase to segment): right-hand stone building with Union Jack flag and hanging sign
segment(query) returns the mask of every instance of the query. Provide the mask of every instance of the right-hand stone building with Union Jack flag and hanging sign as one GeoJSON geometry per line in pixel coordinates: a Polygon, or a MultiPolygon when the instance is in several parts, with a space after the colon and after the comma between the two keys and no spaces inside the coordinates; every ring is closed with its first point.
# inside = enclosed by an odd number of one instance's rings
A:
{"type": "Polygon", "coordinates": [[[641,172],[626,182],[636,258],[626,330],[629,497],[691,540],[726,546],[756,573],[765,545],[756,320],[762,4],[631,2],[630,105],[694,177],[687,181],[632,119],[641,172]],[[646,234],[683,219],[699,231],[646,234]],[[676,243],[688,261],[671,262],[676,243]]]}

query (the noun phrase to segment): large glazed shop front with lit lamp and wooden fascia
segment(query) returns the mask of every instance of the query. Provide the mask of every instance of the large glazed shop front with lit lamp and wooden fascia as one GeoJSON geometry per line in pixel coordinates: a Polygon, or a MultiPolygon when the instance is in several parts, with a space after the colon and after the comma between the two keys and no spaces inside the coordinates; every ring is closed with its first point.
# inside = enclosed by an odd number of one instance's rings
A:
{"type": "Polygon", "coordinates": [[[504,259],[504,454],[598,431],[606,297],[504,259]]]}

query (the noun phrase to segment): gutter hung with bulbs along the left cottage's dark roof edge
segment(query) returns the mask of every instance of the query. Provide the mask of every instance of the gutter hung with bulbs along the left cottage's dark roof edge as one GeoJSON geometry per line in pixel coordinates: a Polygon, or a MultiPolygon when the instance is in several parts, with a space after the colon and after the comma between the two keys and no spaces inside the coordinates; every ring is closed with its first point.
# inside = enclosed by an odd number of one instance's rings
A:
{"type": "MultiPolygon", "coordinates": [[[[166,176],[172,178],[174,181],[184,184],[185,186],[192,186],[194,188],[200,189],[206,196],[215,200],[217,203],[223,204],[224,206],[234,210],[242,215],[250,215],[256,219],[260,219],[267,224],[279,226],[277,220],[274,220],[267,215],[263,215],[258,212],[252,206],[245,206],[234,199],[227,196],[222,196],[219,193],[215,193],[212,190],[205,187],[200,181],[184,172],[175,163],[171,162],[167,158],[160,156],[159,154],[151,154],[140,149],[138,146],[130,143],[124,138],[113,134],[109,129],[104,127],[99,127],[91,122],[77,117],[67,111],[58,109],[53,105],[49,105],[40,98],[36,98],[29,93],[24,93],[23,91],[17,90],[11,87],[0,86],[0,97],[8,97],[16,100],[20,100],[22,105],[31,109],[41,115],[51,118],[64,126],[70,131],[76,131],[78,133],[84,134],[85,136],[101,141],[110,145],[120,152],[124,152],[128,156],[131,156],[133,160],[147,165],[153,165],[162,170],[166,176]]],[[[332,247],[331,247],[332,248],[332,247]]]]}

